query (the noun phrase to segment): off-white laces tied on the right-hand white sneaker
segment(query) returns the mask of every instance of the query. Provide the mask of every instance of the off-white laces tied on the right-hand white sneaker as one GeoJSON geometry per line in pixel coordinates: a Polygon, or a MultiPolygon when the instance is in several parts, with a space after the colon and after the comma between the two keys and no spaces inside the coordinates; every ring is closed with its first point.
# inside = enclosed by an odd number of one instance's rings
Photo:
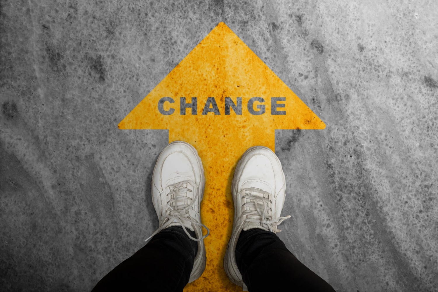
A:
{"type": "Polygon", "coordinates": [[[290,218],[290,215],[272,218],[272,201],[266,198],[265,195],[269,197],[268,192],[252,187],[240,191],[240,197],[243,200],[246,199],[246,202],[242,205],[242,215],[246,215],[244,221],[258,222],[258,225],[269,229],[271,232],[281,232],[281,229],[276,227],[284,220],[290,218]],[[269,204],[271,204],[271,207],[269,207],[269,204]],[[255,210],[251,211],[247,210],[247,208],[254,208],[255,210]],[[269,211],[271,211],[270,214],[269,211]]]}

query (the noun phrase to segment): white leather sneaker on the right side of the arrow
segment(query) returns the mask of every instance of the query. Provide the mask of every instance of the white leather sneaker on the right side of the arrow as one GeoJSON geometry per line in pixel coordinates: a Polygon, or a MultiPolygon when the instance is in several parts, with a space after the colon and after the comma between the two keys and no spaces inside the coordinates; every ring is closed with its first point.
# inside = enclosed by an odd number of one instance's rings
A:
{"type": "Polygon", "coordinates": [[[271,149],[254,146],[245,151],[234,171],[231,193],[234,202],[233,232],[223,259],[225,272],[243,286],[236,263],[236,245],[242,230],[280,232],[276,226],[290,218],[279,217],[286,197],[286,181],[280,160],[271,149]]]}

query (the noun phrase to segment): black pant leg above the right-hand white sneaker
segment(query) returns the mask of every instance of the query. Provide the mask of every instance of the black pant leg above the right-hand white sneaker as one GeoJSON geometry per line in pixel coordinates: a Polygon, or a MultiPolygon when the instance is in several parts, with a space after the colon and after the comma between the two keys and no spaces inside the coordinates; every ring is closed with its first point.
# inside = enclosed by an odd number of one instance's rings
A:
{"type": "Polygon", "coordinates": [[[274,232],[242,231],[237,241],[236,260],[250,292],[335,291],[297,260],[274,232]]]}

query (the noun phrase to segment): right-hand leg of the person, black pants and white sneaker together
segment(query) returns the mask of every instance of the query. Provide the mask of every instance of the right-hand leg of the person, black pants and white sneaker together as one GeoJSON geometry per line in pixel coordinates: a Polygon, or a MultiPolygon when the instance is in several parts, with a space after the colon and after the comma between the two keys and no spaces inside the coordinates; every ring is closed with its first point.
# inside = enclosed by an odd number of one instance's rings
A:
{"type": "Polygon", "coordinates": [[[245,151],[234,171],[233,232],[224,269],[234,284],[249,291],[334,291],[301,264],[276,236],[286,198],[286,180],[272,150],[255,146],[245,151]]]}

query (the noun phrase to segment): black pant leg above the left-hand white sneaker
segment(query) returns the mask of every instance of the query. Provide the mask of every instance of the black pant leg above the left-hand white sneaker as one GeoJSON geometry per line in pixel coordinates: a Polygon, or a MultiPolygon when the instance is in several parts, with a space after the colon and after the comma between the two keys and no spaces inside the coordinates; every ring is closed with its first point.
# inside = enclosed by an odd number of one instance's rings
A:
{"type": "MultiPolygon", "coordinates": [[[[187,231],[195,237],[194,232],[187,231]]],[[[183,291],[197,251],[198,243],[181,227],[166,228],[106,274],[92,292],[183,291]]]]}

